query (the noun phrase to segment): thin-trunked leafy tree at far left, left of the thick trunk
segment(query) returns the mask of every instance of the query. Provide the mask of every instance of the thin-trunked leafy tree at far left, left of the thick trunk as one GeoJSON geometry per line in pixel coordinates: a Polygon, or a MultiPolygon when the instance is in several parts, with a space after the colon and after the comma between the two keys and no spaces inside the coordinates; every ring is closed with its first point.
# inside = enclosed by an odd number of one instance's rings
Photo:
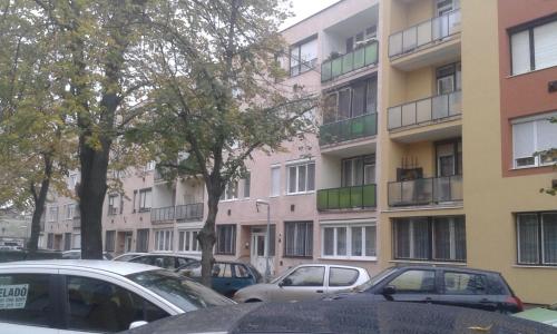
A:
{"type": "Polygon", "coordinates": [[[0,3],[0,203],[32,210],[27,247],[35,252],[49,190],[68,194],[75,145],[50,91],[56,38],[29,4],[0,3]]]}

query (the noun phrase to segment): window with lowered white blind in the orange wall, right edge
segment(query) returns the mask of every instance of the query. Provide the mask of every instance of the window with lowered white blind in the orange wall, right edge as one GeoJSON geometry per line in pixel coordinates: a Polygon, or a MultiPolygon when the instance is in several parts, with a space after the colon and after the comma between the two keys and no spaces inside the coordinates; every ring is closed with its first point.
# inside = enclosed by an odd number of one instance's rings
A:
{"type": "Polygon", "coordinates": [[[550,121],[555,116],[557,115],[540,115],[512,122],[515,168],[544,166],[557,161],[550,154],[545,154],[557,148],[557,124],[550,121]]]}

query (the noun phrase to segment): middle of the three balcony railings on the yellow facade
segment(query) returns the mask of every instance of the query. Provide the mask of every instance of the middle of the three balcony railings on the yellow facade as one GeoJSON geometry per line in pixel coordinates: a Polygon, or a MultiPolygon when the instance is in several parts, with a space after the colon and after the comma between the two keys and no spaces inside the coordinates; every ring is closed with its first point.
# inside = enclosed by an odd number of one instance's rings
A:
{"type": "Polygon", "coordinates": [[[428,97],[388,109],[389,130],[462,114],[462,91],[428,97]]]}

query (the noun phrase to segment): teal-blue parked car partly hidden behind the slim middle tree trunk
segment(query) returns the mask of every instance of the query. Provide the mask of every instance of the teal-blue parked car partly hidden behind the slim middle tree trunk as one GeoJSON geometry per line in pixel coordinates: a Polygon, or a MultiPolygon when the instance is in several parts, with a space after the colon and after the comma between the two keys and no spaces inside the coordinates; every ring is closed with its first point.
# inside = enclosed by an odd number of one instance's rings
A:
{"type": "MultiPolygon", "coordinates": [[[[202,263],[198,261],[189,263],[179,267],[176,272],[201,282],[202,263]]],[[[243,287],[261,283],[263,278],[257,269],[251,264],[224,261],[215,262],[212,276],[213,289],[227,297],[232,297],[243,287]]]]}

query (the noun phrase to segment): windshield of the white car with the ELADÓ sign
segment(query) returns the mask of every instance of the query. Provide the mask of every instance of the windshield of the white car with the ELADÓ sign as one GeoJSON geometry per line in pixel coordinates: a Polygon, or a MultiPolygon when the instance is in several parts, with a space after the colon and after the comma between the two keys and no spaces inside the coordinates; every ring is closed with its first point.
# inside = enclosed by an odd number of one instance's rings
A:
{"type": "Polygon", "coordinates": [[[148,271],[126,277],[153,291],[184,312],[234,304],[216,292],[167,271],[148,271]]]}

